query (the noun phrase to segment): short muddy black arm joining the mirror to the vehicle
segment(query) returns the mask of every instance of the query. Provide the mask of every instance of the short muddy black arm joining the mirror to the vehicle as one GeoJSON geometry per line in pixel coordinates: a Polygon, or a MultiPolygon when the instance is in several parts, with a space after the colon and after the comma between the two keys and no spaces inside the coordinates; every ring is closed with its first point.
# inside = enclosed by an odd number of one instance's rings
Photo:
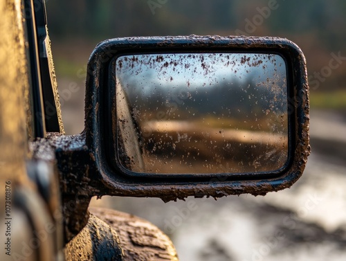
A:
{"type": "MultiPolygon", "coordinates": [[[[84,134],[64,136],[48,134],[48,144],[55,151],[60,175],[62,200],[61,219],[64,220],[64,240],[70,242],[86,226],[91,197],[102,195],[102,188],[93,155],[85,145],[84,134]]],[[[107,195],[107,192],[103,195],[107,195]]]]}

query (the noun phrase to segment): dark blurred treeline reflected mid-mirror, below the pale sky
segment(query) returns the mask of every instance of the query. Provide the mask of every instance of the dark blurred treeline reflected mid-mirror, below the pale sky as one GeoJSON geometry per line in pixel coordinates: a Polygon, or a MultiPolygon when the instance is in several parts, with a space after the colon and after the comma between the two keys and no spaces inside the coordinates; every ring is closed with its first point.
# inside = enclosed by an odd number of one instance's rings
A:
{"type": "MultiPolygon", "coordinates": [[[[129,86],[132,84],[134,82],[130,80],[129,86]]],[[[159,85],[151,89],[153,91],[146,94],[143,91],[127,92],[129,104],[136,111],[134,117],[140,121],[215,118],[224,120],[224,123],[237,120],[238,126],[230,127],[248,129],[252,126],[253,130],[263,130],[268,126],[261,126],[262,120],[276,122],[282,119],[283,114],[286,118],[285,79],[256,82],[256,78],[249,75],[246,80],[221,80],[209,87],[188,87],[184,84],[174,89],[159,85]]]]}

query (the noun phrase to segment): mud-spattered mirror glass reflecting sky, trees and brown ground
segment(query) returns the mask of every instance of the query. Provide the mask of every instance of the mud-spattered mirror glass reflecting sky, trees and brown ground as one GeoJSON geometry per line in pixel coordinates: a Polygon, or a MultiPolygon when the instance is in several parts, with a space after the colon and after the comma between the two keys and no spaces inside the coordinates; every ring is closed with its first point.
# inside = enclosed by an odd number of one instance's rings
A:
{"type": "Polygon", "coordinates": [[[127,55],[113,70],[123,168],[235,174],[286,164],[286,64],[280,55],[127,55]]]}

